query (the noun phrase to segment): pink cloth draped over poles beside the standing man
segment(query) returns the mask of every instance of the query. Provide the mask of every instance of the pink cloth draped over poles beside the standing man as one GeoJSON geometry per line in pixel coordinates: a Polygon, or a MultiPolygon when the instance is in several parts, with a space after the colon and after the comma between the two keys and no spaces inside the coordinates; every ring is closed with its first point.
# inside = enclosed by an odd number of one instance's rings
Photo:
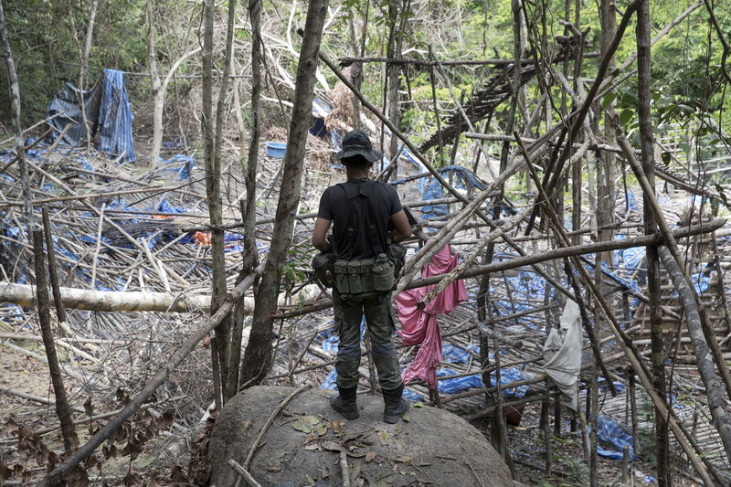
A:
{"type": "MultiPolygon", "coordinates": [[[[429,265],[421,270],[421,277],[446,274],[459,264],[460,255],[451,255],[450,246],[446,245],[434,257],[429,265]]],[[[403,343],[407,346],[421,344],[417,356],[401,375],[404,384],[415,378],[424,379],[429,389],[437,388],[437,365],[441,361],[441,333],[437,323],[438,314],[450,313],[460,302],[467,299],[464,281],[452,282],[441,291],[424,310],[419,310],[417,302],[423,298],[434,285],[403,291],[396,297],[398,320],[402,329],[398,331],[403,343]]]]}

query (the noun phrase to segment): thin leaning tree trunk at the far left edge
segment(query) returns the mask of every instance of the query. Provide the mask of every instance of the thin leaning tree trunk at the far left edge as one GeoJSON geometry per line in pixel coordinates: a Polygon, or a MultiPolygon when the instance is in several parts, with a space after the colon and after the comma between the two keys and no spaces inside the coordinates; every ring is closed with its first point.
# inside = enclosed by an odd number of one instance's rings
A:
{"type": "Polygon", "coordinates": [[[10,87],[10,117],[13,120],[13,135],[16,142],[17,164],[20,167],[20,177],[23,184],[23,213],[26,219],[27,241],[30,241],[30,230],[35,227],[33,208],[30,205],[30,178],[26,164],[26,146],[23,143],[23,129],[20,127],[20,87],[17,82],[16,64],[10,52],[10,37],[7,36],[3,2],[0,0],[0,42],[2,42],[5,67],[7,68],[7,84],[10,87]]]}

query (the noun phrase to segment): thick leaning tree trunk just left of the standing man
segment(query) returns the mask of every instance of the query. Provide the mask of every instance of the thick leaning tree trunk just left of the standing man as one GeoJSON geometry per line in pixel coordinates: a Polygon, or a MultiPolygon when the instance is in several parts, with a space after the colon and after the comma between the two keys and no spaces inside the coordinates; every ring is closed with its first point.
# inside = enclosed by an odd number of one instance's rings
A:
{"type": "Polygon", "coordinates": [[[269,256],[256,292],[257,305],[242,364],[241,380],[249,385],[259,384],[266,378],[272,359],[273,314],[281,283],[281,266],[290,247],[294,216],[300,202],[304,150],[313,105],[314,75],[326,9],[327,0],[311,0],[307,8],[300,60],[297,65],[287,151],[282,162],[284,169],[277,206],[277,221],[271,235],[269,256]]]}

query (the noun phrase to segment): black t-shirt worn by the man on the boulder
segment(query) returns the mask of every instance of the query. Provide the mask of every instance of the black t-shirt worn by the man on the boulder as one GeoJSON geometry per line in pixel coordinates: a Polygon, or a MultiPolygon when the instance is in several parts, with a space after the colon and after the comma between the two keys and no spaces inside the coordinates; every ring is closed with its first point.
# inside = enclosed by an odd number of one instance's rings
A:
{"type": "Polygon", "coordinates": [[[372,259],[385,252],[388,223],[402,209],[396,189],[367,181],[348,179],[353,197],[348,197],[346,185],[333,185],[320,198],[317,217],[333,221],[338,259],[372,259]]]}

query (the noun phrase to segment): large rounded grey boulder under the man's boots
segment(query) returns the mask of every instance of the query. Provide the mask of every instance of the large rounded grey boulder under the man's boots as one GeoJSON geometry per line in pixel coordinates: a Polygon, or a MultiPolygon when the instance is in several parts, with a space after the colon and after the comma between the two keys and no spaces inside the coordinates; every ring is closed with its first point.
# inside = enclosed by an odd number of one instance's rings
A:
{"type": "MultiPolygon", "coordinates": [[[[251,387],[220,412],[208,455],[211,485],[233,486],[252,442],[281,401],[295,389],[251,387]]],[[[508,487],[512,477],[503,459],[462,418],[438,408],[411,408],[405,421],[382,420],[380,396],[359,395],[360,418],[347,421],[328,404],[333,391],[306,389],[274,418],[249,466],[262,486],[343,485],[340,450],[347,452],[355,486],[508,487]]],[[[240,485],[247,485],[241,482],[240,485]]]]}

